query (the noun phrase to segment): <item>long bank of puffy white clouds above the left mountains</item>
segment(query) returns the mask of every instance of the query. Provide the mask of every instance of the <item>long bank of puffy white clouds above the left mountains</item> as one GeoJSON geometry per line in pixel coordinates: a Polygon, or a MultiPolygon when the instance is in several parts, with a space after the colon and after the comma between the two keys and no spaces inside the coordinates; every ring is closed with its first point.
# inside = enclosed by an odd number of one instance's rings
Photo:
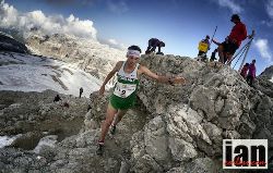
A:
{"type": "Polygon", "coordinates": [[[39,10],[20,13],[4,1],[0,3],[0,27],[17,28],[23,33],[37,27],[40,32],[48,35],[61,33],[93,39],[96,39],[97,34],[93,22],[90,20],[80,20],[73,14],[67,18],[62,15],[45,15],[39,10]]]}

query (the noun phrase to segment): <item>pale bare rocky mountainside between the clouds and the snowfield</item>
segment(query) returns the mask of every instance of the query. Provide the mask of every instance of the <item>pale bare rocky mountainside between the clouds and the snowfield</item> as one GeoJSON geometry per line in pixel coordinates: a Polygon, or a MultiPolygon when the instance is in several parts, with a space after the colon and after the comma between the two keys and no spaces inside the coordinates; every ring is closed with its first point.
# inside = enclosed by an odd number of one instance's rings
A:
{"type": "Polygon", "coordinates": [[[99,79],[106,77],[117,61],[126,58],[126,51],[68,35],[31,35],[26,45],[37,54],[74,63],[99,79]]]}

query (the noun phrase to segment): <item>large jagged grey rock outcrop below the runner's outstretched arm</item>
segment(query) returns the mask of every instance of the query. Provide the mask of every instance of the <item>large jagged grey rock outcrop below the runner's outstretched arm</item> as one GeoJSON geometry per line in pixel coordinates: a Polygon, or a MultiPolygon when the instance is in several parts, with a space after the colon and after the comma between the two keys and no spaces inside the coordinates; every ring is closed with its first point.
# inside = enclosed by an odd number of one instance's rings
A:
{"type": "Polygon", "coordinates": [[[142,156],[132,155],[135,164],[149,155],[164,171],[174,166],[174,162],[187,162],[202,155],[221,157],[223,138],[252,137],[256,124],[249,118],[251,88],[237,72],[180,57],[142,60],[154,72],[185,76],[187,84],[168,86],[142,78],[139,97],[153,112],[154,119],[149,123],[154,125],[141,132],[143,138],[138,144],[143,144],[140,149],[144,151],[136,151],[142,156]],[[149,146],[164,156],[158,158],[149,146]],[[161,164],[163,160],[165,163],[161,164]]]}

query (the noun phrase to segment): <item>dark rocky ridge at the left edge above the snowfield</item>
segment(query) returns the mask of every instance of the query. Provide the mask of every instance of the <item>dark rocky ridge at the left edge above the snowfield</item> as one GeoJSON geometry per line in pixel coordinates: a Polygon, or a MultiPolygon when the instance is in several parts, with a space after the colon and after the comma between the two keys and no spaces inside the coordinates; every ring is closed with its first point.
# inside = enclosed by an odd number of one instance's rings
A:
{"type": "Polygon", "coordinates": [[[12,37],[4,35],[1,32],[0,32],[0,51],[12,51],[19,53],[28,52],[24,44],[16,41],[12,37]]]}

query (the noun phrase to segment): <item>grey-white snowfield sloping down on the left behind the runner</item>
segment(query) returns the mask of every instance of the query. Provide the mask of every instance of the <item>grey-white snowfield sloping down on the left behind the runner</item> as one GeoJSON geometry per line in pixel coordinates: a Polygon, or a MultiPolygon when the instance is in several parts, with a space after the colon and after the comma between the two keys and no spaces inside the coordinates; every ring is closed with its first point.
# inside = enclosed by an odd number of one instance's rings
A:
{"type": "Polygon", "coordinates": [[[58,60],[24,53],[0,53],[0,90],[43,91],[83,96],[98,90],[100,81],[88,73],[58,60]]]}

